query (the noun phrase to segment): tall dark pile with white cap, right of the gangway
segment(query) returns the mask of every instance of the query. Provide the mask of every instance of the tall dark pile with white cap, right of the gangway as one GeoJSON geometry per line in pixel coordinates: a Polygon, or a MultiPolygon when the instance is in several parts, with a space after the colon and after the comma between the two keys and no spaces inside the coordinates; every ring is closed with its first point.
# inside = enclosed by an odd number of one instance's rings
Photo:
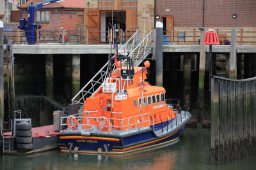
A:
{"type": "Polygon", "coordinates": [[[163,23],[156,22],[156,85],[163,86],[163,23]]]}

